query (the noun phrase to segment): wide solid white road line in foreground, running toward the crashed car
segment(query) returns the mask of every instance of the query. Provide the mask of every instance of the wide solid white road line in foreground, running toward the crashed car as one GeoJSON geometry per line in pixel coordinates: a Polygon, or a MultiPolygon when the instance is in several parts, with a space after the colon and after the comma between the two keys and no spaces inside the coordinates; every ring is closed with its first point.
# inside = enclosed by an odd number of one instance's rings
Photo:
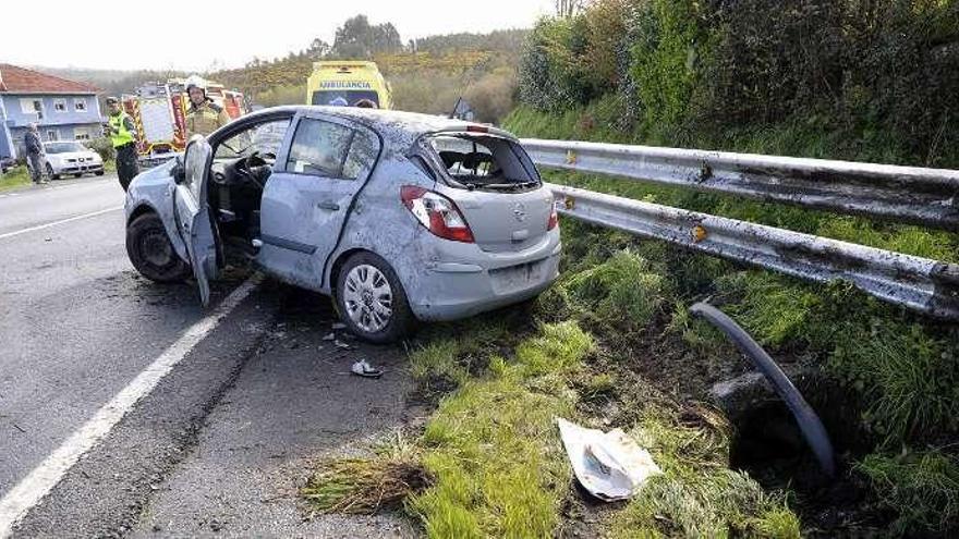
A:
{"type": "Polygon", "coordinates": [[[256,289],[260,280],[259,274],[251,277],[227,296],[214,313],[191,326],[149,367],[120,390],[57,451],[13,487],[3,499],[0,499],[0,539],[9,537],[13,532],[13,527],[60,482],[66,471],[87,451],[106,438],[141,399],[148,395],[157,383],[217,327],[220,320],[256,289]]]}

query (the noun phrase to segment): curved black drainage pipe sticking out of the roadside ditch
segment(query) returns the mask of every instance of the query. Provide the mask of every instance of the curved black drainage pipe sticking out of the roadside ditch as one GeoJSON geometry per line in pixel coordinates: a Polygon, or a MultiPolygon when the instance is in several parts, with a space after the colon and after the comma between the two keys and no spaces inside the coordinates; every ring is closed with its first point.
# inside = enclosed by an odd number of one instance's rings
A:
{"type": "Polygon", "coordinates": [[[690,313],[705,318],[723,330],[736,343],[739,350],[752,359],[753,365],[773,384],[776,393],[786,401],[786,405],[789,406],[789,411],[792,412],[796,421],[799,424],[802,437],[816,455],[823,471],[829,478],[834,477],[836,475],[836,461],[833,453],[833,442],[829,441],[829,434],[826,432],[826,428],[823,427],[823,421],[820,420],[820,416],[816,415],[812,406],[805,402],[805,399],[802,397],[802,394],[796,389],[789,377],[769,357],[769,354],[745,330],[716,307],[705,303],[697,303],[690,307],[690,313]]]}

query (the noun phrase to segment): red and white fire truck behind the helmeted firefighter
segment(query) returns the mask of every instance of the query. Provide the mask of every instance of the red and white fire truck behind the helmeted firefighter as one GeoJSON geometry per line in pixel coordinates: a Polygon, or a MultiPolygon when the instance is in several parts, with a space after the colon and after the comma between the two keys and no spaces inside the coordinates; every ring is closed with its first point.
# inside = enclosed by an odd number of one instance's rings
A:
{"type": "MultiPolygon", "coordinates": [[[[207,81],[206,95],[233,120],[248,112],[243,94],[228,90],[221,84],[207,81]]],[[[121,99],[136,125],[136,151],[143,167],[160,164],[186,149],[185,118],[190,97],[185,78],[147,83],[121,99]]]]}

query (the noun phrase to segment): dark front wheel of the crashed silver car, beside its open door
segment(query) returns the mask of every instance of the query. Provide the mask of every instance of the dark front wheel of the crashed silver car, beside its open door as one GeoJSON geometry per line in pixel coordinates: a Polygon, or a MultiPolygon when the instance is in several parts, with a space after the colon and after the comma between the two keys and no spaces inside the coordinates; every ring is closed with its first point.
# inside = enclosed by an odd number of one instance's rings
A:
{"type": "Polygon", "coordinates": [[[126,226],[126,255],[136,271],[150,281],[173,283],[191,275],[156,213],[137,217],[126,226]]]}

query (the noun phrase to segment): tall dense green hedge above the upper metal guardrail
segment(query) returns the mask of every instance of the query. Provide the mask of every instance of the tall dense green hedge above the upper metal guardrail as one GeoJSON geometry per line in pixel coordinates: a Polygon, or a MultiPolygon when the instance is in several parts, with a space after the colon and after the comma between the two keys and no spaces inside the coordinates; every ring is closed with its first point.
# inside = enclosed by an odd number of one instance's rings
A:
{"type": "Polygon", "coordinates": [[[959,159],[955,0],[597,0],[537,23],[519,81],[545,111],[611,96],[621,126],[642,120],[657,144],[788,121],[912,162],[959,159]]]}

